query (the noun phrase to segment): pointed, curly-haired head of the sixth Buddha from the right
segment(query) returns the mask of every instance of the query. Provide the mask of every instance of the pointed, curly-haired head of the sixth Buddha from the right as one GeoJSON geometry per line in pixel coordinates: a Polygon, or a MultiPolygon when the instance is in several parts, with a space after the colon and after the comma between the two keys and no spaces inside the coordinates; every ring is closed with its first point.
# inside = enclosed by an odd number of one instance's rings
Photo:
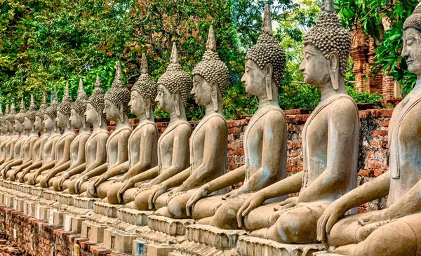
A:
{"type": "Polygon", "coordinates": [[[142,54],[142,73],[138,81],[133,85],[131,100],[128,106],[136,116],[146,115],[149,119],[154,111],[154,99],[158,91],[158,85],[152,80],[147,70],[145,53],[142,54]]]}

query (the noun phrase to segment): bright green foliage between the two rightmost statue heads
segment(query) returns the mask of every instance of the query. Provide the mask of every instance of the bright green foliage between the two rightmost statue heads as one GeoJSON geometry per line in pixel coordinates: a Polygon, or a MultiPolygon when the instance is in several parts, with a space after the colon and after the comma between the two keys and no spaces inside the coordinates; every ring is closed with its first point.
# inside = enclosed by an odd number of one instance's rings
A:
{"type": "Polygon", "coordinates": [[[373,69],[377,69],[377,74],[382,71],[393,76],[400,82],[403,94],[409,93],[416,82],[416,76],[408,72],[406,62],[401,58],[403,22],[417,4],[417,0],[335,1],[344,25],[349,29],[361,25],[364,33],[377,40],[373,69]],[[385,20],[390,22],[392,29],[385,29],[385,20]]]}

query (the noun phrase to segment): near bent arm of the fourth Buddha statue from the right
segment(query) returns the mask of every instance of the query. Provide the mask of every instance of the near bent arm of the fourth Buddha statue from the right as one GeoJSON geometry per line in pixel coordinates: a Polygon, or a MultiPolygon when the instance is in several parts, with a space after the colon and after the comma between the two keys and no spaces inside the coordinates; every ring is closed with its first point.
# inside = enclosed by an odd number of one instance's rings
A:
{"type": "MultiPolygon", "coordinates": [[[[227,128],[224,121],[217,119],[206,127],[205,140],[203,144],[203,159],[200,166],[195,168],[193,173],[187,177],[179,191],[187,191],[194,187],[201,186],[209,178],[218,173],[221,169],[221,159],[218,151],[227,147],[227,128]],[[218,121],[217,121],[218,120],[218,121]]],[[[222,156],[226,158],[227,156],[222,156]]],[[[224,163],[222,161],[222,163],[224,163]]]]}

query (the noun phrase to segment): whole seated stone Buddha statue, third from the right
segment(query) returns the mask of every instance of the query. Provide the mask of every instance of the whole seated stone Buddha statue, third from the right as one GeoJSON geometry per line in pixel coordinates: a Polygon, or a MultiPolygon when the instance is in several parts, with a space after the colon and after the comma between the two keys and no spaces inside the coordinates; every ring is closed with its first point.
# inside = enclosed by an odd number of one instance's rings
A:
{"type": "MultiPolygon", "coordinates": [[[[246,84],[246,92],[259,99],[258,110],[244,135],[246,164],[208,182],[192,195],[187,213],[199,223],[238,229],[236,213],[246,198],[286,177],[286,117],[277,97],[285,62],[285,53],[272,34],[267,5],[262,34],[246,55],[246,73],[241,79],[246,84]],[[242,187],[225,196],[208,196],[242,181],[242,187]]],[[[280,199],[275,198],[275,201],[280,199]]]]}

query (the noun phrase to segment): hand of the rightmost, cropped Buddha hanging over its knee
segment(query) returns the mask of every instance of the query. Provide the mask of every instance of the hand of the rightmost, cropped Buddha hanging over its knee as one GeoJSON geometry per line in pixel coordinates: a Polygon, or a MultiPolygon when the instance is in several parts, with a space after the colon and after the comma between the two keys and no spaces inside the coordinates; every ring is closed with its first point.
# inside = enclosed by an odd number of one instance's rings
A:
{"type": "Polygon", "coordinates": [[[317,221],[317,240],[321,241],[326,248],[328,248],[326,241],[330,230],[346,212],[347,210],[343,207],[340,200],[338,200],[331,203],[317,221]]]}

